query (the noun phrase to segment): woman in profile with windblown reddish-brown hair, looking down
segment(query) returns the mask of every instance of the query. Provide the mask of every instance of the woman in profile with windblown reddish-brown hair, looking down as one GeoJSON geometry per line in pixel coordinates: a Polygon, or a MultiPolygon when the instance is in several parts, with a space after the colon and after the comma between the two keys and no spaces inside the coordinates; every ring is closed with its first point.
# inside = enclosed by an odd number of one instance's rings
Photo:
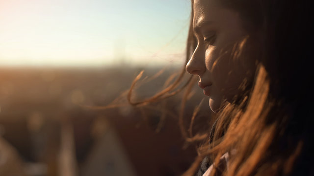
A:
{"type": "MultiPolygon", "coordinates": [[[[314,175],[310,5],[292,0],[191,4],[186,71],[198,75],[216,121],[184,175],[198,169],[198,176],[314,175]]],[[[156,96],[132,104],[172,96],[181,90],[171,93],[182,75],[156,96]]]]}

